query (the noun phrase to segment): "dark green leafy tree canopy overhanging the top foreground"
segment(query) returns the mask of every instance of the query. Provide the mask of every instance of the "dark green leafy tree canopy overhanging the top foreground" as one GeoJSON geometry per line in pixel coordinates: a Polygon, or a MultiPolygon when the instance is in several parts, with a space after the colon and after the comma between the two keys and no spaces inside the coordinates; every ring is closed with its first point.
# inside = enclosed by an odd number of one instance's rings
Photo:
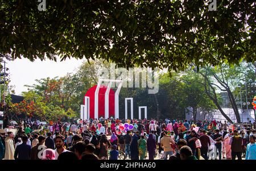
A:
{"type": "Polygon", "coordinates": [[[204,0],[46,0],[46,11],[38,5],[0,2],[1,53],[173,70],[255,61],[255,1],[218,1],[216,11],[204,0]]]}

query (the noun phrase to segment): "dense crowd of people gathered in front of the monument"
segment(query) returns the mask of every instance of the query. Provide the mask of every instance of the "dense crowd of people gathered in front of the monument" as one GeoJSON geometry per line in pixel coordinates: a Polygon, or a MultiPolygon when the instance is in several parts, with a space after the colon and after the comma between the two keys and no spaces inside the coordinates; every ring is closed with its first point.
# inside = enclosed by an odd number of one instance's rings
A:
{"type": "Polygon", "coordinates": [[[0,160],[256,160],[256,126],[198,120],[77,119],[72,123],[20,121],[5,129],[0,160]],[[119,130],[123,124],[131,129],[119,130]]]}

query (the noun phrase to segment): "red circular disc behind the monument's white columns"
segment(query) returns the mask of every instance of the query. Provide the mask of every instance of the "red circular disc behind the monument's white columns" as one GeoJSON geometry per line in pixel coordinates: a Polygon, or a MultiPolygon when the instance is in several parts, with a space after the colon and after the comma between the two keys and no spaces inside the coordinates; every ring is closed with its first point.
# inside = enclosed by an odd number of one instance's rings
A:
{"type": "MultiPolygon", "coordinates": [[[[85,93],[85,96],[89,97],[89,102],[90,102],[90,118],[95,118],[94,117],[94,95],[95,95],[95,90],[97,88],[97,85],[90,87],[90,89],[85,93]]],[[[98,118],[101,116],[105,118],[105,92],[106,92],[107,87],[106,86],[100,86],[100,90],[98,91],[98,118]]],[[[84,100],[84,105],[85,100],[84,100]]],[[[115,91],[113,89],[110,89],[109,91],[109,118],[115,116],[115,91]]]]}

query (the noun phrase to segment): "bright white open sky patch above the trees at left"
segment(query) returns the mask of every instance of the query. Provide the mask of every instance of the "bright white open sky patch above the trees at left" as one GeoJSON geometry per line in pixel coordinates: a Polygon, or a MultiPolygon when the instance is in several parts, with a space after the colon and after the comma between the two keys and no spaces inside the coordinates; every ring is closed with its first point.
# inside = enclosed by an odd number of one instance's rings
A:
{"type": "Polygon", "coordinates": [[[16,95],[22,91],[27,91],[24,85],[36,84],[36,79],[53,78],[56,76],[65,76],[67,73],[74,72],[84,60],[66,59],[65,61],[51,60],[41,61],[39,59],[31,62],[28,59],[15,59],[7,61],[6,68],[9,68],[10,85],[14,85],[16,95]]]}

